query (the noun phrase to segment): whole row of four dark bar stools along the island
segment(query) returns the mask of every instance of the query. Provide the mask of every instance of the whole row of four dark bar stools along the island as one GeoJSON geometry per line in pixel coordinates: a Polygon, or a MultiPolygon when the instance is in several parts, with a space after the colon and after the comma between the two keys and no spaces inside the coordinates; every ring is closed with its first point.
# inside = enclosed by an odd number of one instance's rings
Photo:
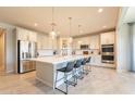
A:
{"type": "Polygon", "coordinates": [[[84,58],[84,59],[79,59],[76,61],[70,61],[70,62],[68,62],[65,67],[57,70],[54,88],[62,91],[63,93],[68,94],[68,92],[69,92],[68,87],[70,85],[75,87],[77,85],[78,79],[83,79],[85,75],[87,75],[89,72],[91,72],[90,59],[91,58],[89,56],[89,58],[84,58]],[[60,80],[60,79],[58,79],[59,72],[64,74],[63,78],[64,78],[64,84],[65,84],[65,90],[62,90],[57,87],[57,83],[60,80]],[[71,73],[72,73],[73,80],[68,79],[68,76],[70,76],[71,73]]]}

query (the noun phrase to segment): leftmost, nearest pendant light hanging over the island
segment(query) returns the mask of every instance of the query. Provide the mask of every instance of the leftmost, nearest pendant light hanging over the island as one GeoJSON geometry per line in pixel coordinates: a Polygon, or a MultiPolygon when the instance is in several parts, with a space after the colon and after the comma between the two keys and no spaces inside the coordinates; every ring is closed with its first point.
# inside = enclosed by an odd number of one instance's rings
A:
{"type": "Polygon", "coordinates": [[[51,31],[50,31],[50,36],[52,39],[54,39],[57,37],[57,34],[54,31],[54,26],[56,26],[56,23],[54,23],[54,8],[52,7],[52,23],[51,23],[51,31]]]}

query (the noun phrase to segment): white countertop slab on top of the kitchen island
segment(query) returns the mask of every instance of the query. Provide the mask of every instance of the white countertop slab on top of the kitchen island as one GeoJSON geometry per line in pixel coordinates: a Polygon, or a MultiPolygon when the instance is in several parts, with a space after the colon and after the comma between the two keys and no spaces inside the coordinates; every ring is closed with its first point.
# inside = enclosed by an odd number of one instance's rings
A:
{"type": "Polygon", "coordinates": [[[83,58],[88,58],[91,55],[56,55],[56,56],[44,56],[44,58],[34,58],[30,59],[32,61],[36,62],[45,62],[45,63],[50,63],[50,64],[58,64],[58,63],[63,63],[63,62],[69,62],[69,61],[74,61],[83,58]]]}

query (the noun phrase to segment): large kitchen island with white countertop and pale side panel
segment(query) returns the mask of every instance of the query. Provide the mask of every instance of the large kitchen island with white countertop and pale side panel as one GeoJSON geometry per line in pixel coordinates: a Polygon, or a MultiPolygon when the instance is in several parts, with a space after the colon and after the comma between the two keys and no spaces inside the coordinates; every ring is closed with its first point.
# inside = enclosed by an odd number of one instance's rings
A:
{"type": "MultiPolygon", "coordinates": [[[[46,58],[36,58],[32,59],[32,61],[36,62],[36,79],[41,83],[50,86],[54,89],[54,80],[56,80],[56,71],[58,68],[62,68],[66,66],[66,63],[70,61],[75,61],[78,59],[88,58],[90,55],[56,55],[56,56],[46,56],[46,58]]],[[[58,79],[62,78],[63,74],[59,73],[58,79]]],[[[70,79],[71,76],[69,76],[70,79]]],[[[57,83],[57,86],[63,84],[63,79],[57,83]]]]}

